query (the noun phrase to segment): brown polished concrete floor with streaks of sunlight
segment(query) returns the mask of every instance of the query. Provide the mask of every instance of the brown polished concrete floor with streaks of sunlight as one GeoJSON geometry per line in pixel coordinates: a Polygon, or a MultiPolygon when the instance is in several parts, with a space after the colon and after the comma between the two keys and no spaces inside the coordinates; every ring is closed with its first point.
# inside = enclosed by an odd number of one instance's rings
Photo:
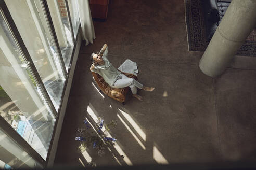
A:
{"type": "MultiPolygon", "coordinates": [[[[88,106],[105,122],[117,120],[110,134],[125,153],[116,154],[122,165],[256,160],[256,71],[233,63],[217,78],[204,75],[202,52],[187,51],[184,1],[112,0],[107,21],[94,26],[96,39],[82,44],[75,68],[56,166],[88,165],[74,140],[88,106]],[[156,88],[139,91],[143,102],[130,98],[123,106],[93,86],[89,55],[104,43],[114,66],[131,59],[139,81],[156,88]]],[[[118,165],[110,153],[87,151],[97,166],[118,165]]]]}

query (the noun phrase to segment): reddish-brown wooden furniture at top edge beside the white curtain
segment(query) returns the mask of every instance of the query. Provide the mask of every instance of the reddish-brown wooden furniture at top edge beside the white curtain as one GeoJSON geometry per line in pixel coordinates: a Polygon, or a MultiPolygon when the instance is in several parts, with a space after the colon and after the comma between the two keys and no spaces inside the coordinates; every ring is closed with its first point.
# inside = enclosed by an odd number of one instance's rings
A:
{"type": "Polygon", "coordinates": [[[109,0],[90,0],[92,18],[107,19],[109,0]]]}

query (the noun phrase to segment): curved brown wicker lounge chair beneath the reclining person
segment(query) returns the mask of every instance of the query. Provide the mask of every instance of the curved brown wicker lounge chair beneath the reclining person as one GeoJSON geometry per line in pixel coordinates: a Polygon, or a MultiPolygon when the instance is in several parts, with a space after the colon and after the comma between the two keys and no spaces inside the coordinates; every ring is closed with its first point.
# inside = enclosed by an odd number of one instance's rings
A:
{"type": "MultiPolygon", "coordinates": [[[[121,73],[129,78],[134,78],[135,80],[137,80],[137,76],[133,74],[124,73],[124,72],[121,72],[121,73]]],[[[99,74],[92,72],[92,75],[96,83],[98,84],[100,90],[103,91],[103,93],[107,94],[109,97],[113,98],[114,100],[122,102],[122,104],[124,105],[125,96],[129,91],[129,87],[114,89],[114,88],[111,88],[109,84],[106,83],[103,77],[101,77],[99,74]]]]}

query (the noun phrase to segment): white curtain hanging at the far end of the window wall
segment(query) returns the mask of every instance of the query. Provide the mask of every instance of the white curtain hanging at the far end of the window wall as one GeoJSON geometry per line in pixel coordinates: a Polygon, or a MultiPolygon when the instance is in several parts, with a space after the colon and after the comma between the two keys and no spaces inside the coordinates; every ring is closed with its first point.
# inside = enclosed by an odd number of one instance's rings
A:
{"type": "Polygon", "coordinates": [[[89,43],[93,43],[93,39],[95,39],[89,0],[78,0],[78,11],[82,27],[83,40],[86,41],[85,45],[88,45],[89,43]]]}

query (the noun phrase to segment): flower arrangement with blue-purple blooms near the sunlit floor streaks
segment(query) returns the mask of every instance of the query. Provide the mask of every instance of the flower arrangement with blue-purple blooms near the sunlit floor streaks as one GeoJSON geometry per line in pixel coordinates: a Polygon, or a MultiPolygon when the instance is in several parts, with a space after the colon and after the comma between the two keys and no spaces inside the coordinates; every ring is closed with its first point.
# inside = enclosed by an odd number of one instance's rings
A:
{"type": "Polygon", "coordinates": [[[105,130],[102,131],[103,129],[103,122],[104,120],[102,118],[97,119],[97,123],[95,124],[96,126],[96,131],[97,133],[92,130],[93,128],[89,124],[87,120],[84,120],[84,124],[86,125],[86,128],[78,128],[77,134],[75,137],[75,140],[80,141],[80,146],[78,147],[79,152],[84,152],[86,148],[93,146],[93,149],[97,151],[97,154],[102,157],[105,154],[105,146],[107,144],[109,145],[114,145],[116,142],[116,138],[112,137],[107,137],[108,131],[110,130],[111,127],[116,127],[117,122],[112,120],[110,123],[108,123],[105,126],[105,130]]]}

